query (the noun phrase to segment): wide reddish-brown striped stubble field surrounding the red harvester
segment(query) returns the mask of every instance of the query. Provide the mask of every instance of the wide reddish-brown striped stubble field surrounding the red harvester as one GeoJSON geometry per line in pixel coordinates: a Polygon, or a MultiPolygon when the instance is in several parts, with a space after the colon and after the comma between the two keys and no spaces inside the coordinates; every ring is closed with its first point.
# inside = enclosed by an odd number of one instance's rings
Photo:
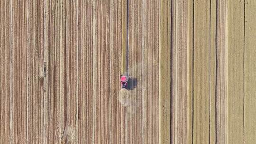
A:
{"type": "Polygon", "coordinates": [[[157,143],[159,2],[128,8],[124,98],[121,1],[0,2],[0,143],[157,143]]]}

